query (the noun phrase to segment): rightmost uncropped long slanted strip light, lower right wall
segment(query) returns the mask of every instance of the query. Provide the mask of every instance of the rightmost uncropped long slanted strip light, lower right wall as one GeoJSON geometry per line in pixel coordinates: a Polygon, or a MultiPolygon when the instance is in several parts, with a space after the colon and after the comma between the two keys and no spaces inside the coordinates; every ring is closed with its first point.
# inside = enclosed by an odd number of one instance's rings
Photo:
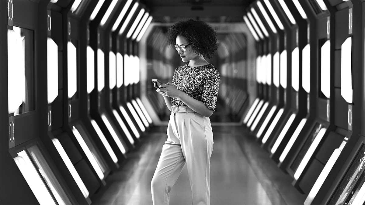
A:
{"type": "MultiPolygon", "coordinates": [[[[339,148],[335,149],[330,157],[330,159],[328,159],[326,166],[324,166],[323,170],[321,171],[321,173],[319,174],[316,182],[314,183],[314,185],[312,186],[311,191],[309,192],[306,201],[304,201],[304,205],[310,205],[312,204],[312,201],[314,200],[314,197],[317,195],[320,187],[322,186],[324,180],[327,178],[328,174],[330,173],[333,165],[335,164],[336,160],[338,159],[338,156],[341,154],[341,150],[339,148]]],[[[362,187],[361,187],[362,189],[362,187]]],[[[360,190],[361,190],[360,189],[360,190]]],[[[360,192],[359,192],[360,193],[360,192]]],[[[357,194],[357,196],[359,196],[359,193],[357,194]]],[[[364,193],[362,193],[360,196],[364,195],[364,193]]],[[[355,202],[355,201],[354,201],[355,202]]],[[[355,205],[356,203],[351,203],[353,205],[355,205]]],[[[361,203],[361,205],[364,202],[361,203]]]]}

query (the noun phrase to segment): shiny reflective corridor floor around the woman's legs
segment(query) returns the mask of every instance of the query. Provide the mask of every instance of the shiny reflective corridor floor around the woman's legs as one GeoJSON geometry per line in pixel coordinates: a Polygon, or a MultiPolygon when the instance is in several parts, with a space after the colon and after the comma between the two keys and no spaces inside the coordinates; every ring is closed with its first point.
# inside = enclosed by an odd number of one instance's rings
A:
{"type": "MultiPolygon", "coordinates": [[[[213,127],[211,205],[297,205],[305,198],[291,186],[268,153],[242,127],[213,127]]],[[[150,182],[166,140],[166,127],[153,128],[121,169],[108,176],[93,205],[152,205],[150,182]]],[[[186,167],[170,193],[171,205],[191,205],[186,167]]]]}

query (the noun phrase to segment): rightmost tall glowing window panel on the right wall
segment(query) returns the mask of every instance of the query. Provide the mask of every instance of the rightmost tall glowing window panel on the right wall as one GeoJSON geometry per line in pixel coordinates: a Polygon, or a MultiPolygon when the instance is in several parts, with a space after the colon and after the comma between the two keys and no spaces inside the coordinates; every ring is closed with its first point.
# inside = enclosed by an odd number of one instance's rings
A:
{"type": "Polygon", "coordinates": [[[352,103],[351,44],[349,37],[341,46],[341,96],[348,103],[352,103]]]}

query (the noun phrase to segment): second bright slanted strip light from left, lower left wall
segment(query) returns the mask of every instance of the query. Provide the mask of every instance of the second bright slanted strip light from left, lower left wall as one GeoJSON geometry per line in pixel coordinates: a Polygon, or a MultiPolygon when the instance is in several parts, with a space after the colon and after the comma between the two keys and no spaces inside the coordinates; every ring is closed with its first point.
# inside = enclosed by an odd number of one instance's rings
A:
{"type": "Polygon", "coordinates": [[[80,175],[78,175],[75,167],[73,166],[70,158],[68,157],[68,155],[66,154],[64,148],[62,147],[61,143],[58,141],[57,138],[53,138],[52,142],[54,144],[54,146],[56,147],[59,155],[61,156],[62,160],[64,160],[65,165],[67,167],[67,169],[70,171],[73,179],[76,181],[77,186],[80,188],[82,194],[84,195],[85,198],[87,198],[89,196],[89,191],[86,188],[84,182],[82,182],[80,175]]]}

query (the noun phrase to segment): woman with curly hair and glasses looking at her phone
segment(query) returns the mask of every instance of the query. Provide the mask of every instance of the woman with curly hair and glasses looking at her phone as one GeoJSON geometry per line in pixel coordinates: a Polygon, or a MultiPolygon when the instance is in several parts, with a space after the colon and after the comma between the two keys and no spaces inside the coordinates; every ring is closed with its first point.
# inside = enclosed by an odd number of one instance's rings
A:
{"type": "Polygon", "coordinates": [[[210,205],[210,156],[213,133],[209,117],[215,111],[219,72],[205,58],[218,48],[216,32],[199,20],[175,23],[167,33],[186,65],[178,67],[172,83],[157,87],[171,111],[168,138],[162,147],[152,182],[154,205],[168,205],[169,192],[188,168],[194,205],[210,205]]]}

